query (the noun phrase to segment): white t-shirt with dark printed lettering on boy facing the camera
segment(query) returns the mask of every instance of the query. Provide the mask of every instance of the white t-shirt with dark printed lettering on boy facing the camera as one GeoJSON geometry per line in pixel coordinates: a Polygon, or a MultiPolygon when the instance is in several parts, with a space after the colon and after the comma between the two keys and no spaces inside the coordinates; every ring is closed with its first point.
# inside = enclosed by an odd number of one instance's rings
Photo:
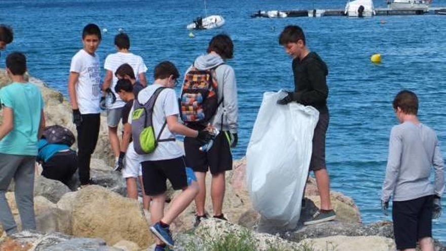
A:
{"type": "Polygon", "coordinates": [[[92,56],[84,49],[80,50],[71,59],[70,72],[79,73],[76,83],[76,100],[81,114],[100,113],[101,76],[98,55],[95,53],[92,56]]]}

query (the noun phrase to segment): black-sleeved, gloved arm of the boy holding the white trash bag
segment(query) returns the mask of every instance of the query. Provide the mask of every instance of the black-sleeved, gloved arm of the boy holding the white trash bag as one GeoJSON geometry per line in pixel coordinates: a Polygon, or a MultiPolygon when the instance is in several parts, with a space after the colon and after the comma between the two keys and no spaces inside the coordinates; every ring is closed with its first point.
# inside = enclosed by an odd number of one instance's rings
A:
{"type": "Polygon", "coordinates": [[[304,105],[324,102],[328,97],[325,71],[315,64],[308,64],[308,78],[313,90],[293,93],[293,100],[304,105]]]}

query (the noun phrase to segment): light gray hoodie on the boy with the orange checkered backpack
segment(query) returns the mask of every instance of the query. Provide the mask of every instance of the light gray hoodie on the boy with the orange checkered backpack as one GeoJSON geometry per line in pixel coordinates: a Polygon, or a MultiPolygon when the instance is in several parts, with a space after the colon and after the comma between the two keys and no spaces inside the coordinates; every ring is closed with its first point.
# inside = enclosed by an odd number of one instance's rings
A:
{"type": "MultiPolygon", "coordinates": [[[[215,68],[215,78],[218,83],[218,101],[223,102],[218,106],[217,112],[211,119],[211,125],[218,130],[222,128],[224,131],[237,133],[238,129],[238,104],[237,104],[237,82],[235,79],[234,69],[225,63],[225,61],[217,54],[206,54],[199,56],[194,66],[199,70],[215,68]],[[218,66],[218,67],[217,67],[218,66]],[[221,125],[223,121],[223,125],[221,125]]],[[[192,65],[186,73],[190,71],[192,65]]],[[[181,87],[182,89],[182,87],[181,87]]]]}

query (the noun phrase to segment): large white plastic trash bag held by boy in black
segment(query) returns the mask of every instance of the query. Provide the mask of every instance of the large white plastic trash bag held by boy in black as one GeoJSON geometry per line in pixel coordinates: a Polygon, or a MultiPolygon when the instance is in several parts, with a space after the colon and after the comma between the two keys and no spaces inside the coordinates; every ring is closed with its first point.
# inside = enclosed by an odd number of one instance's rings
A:
{"type": "Polygon", "coordinates": [[[278,227],[299,221],[314,128],[319,112],[291,102],[277,104],[286,92],[265,92],[246,152],[247,188],[252,205],[278,227]]]}

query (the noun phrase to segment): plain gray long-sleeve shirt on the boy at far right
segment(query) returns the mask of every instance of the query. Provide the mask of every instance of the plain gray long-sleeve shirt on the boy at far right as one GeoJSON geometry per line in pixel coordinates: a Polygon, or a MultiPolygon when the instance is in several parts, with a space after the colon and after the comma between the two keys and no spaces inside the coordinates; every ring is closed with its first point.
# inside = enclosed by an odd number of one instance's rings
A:
{"type": "Polygon", "coordinates": [[[434,130],[423,124],[404,122],[390,132],[389,157],[381,199],[405,201],[444,191],[443,158],[434,130]],[[434,186],[429,181],[435,170],[434,186]]]}

